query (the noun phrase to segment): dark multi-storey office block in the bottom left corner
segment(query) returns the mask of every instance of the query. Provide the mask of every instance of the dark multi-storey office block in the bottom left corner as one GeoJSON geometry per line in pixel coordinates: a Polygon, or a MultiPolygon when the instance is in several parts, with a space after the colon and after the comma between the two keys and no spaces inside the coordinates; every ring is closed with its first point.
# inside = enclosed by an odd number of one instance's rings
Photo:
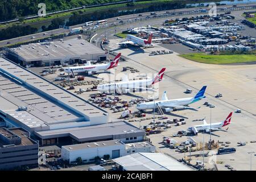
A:
{"type": "Polygon", "coordinates": [[[39,145],[22,128],[0,128],[0,169],[38,165],[39,145]]]}

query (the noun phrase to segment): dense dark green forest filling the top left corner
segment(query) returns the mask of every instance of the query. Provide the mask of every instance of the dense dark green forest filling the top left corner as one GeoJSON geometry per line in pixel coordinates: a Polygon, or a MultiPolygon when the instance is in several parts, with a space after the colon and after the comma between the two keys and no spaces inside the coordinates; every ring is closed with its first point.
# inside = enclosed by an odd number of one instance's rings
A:
{"type": "Polygon", "coordinates": [[[1,0],[0,21],[35,15],[38,13],[39,3],[46,3],[47,12],[52,12],[86,5],[118,1],[122,0],[1,0]]]}

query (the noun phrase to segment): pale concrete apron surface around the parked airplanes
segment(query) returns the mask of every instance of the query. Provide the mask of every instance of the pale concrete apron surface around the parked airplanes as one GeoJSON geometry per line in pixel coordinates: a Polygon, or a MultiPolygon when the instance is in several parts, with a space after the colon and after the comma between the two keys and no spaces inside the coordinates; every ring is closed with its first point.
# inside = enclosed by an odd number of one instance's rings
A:
{"type": "MultiPolygon", "coordinates": [[[[110,40],[110,47],[118,40],[110,40]]],[[[255,84],[255,69],[256,65],[210,65],[201,64],[189,61],[177,56],[177,53],[170,55],[148,56],[148,53],[165,48],[155,47],[141,49],[141,51],[133,51],[131,49],[119,49],[117,52],[122,52],[123,56],[128,57],[127,62],[121,63],[118,67],[131,66],[139,69],[140,73],[155,73],[161,68],[166,67],[167,71],[164,75],[164,80],[159,84],[159,97],[166,90],[168,98],[183,98],[191,97],[191,94],[183,93],[185,89],[192,89],[193,95],[203,85],[208,85],[207,98],[205,100],[192,104],[193,107],[201,106],[198,111],[195,110],[179,110],[167,115],[170,119],[177,117],[188,118],[187,125],[174,126],[166,132],[158,135],[150,135],[152,142],[158,147],[161,152],[167,152],[177,158],[182,158],[184,154],[178,154],[174,150],[163,147],[163,136],[171,136],[180,130],[185,130],[189,126],[199,125],[200,122],[192,122],[193,119],[201,119],[207,117],[207,122],[210,123],[210,109],[204,106],[204,101],[209,101],[215,108],[212,109],[212,123],[220,122],[225,119],[230,111],[234,111],[237,107],[242,109],[242,113],[233,113],[232,124],[229,126],[228,132],[216,131],[212,135],[212,139],[223,142],[231,142],[229,147],[236,147],[236,154],[227,154],[217,156],[218,160],[222,160],[224,164],[217,164],[223,167],[225,164],[230,164],[237,170],[249,169],[250,156],[248,151],[254,151],[256,143],[250,143],[256,139],[256,123],[255,123],[255,103],[256,103],[256,84],[255,84]],[[217,93],[222,93],[220,99],[214,98],[217,93]],[[246,146],[237,147],[237,142],[246,141],[246,146]],[[230,160],[231,159],[231,160],[230,160]]],[[[139,126],[139,122],[133,122],[139,126]]],[[[142,121],[141,126],[147,125],[148,121],[142,121]]],[[[209,134],[205,134],[205,141],[209,140],[209,134]]],[[[203,141],[203,134],[193,137],[197,142],[203,141]]],[[[178,141],[185,141],[187,138],[175,138],[178,141]]],[[[256,164],[254,162],[254,167],[256,164]]],[[[224,167],[225,168],[225,167],[224,167]]]]}

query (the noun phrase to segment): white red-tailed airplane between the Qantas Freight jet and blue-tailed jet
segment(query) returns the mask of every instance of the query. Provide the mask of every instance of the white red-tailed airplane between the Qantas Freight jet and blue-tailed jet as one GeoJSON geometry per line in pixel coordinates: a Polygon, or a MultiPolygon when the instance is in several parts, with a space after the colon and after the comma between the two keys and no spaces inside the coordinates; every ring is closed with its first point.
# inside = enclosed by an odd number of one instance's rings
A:
{"type": "Polygon", "coordinates": [[[130,92],[142,92],[144,90],[148,90],[151,92],[154,92],[154,89],[152,89],[152,85],[156,84],[157,82],[163,80],[164,71],[166,71],[166,68],[162,68],[161,71],[158,73],[158,75],[154,78],[146,78],[143,80],[133,80],[129,81],[127,76],[126,78],[123,78],[123,81],[121,82],[115,82],[113,84],[103,84],[98,85],[98,92],[100,93],[130,93],[130,92]]]}

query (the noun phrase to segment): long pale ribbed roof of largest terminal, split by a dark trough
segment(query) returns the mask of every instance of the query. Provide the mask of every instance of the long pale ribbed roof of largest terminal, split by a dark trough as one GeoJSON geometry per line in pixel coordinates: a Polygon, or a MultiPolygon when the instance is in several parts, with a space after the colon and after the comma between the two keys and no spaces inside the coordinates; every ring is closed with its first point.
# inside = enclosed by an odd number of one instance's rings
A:
{"type": "Polygon", "coordinates": [[[30,128],[97,117],[101,123],[108,122],[105,110],[3,58],[0,92],[0,110],[30,128]],[[27,106],[27,110],[18,111],[19,106],[27,106]]]}

